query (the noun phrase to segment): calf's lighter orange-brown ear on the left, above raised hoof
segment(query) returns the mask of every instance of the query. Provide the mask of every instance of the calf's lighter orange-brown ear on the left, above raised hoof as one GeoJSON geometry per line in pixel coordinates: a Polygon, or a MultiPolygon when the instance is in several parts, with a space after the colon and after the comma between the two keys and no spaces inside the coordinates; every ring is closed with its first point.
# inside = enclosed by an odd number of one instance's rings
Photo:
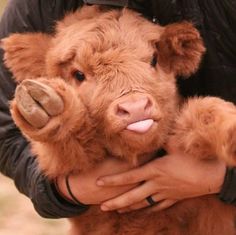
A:
{"type": "Polygon", "coordinates": [[[4,63],[20,82],[45,76],[45,56],[51,36],[43,33],[12,34],[1,40],[4,63]]]}

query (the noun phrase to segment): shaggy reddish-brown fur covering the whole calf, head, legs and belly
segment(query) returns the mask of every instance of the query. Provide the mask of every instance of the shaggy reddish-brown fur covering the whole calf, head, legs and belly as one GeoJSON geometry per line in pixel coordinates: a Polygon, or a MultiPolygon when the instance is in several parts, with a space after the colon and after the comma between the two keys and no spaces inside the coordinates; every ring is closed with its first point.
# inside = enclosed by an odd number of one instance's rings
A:
{"type": "MultiPolygon", "coordinates": [[[[139,165],[165,144],[235,165],[235,106],[211,97],[180,106],[175,78],[194,73],[205,50],[190,23],[161,27],[127,9],[84,7],[55,35],[14,34],[3,47],[19,82],[13,119],[51,179],[96,167],[108,153],[139,165]],[[147,119],[148,131],[127,130],[147,119]]],[[[91,207],[71,222],[75,235],[233,235],[235,212],[209,196],[161,212],[91,207]]]]}

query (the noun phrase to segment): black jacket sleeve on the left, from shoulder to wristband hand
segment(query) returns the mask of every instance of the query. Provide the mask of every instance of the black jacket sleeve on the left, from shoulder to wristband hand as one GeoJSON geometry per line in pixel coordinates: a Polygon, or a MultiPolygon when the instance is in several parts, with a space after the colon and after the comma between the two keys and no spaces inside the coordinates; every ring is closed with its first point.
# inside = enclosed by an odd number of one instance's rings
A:
{"type": "MultiPolygon", "coordinates": [[[[13,32],[50,32],[65,8],[73,10],[82,1],[9,0],[0,22],[0,38],[13,32]],[[73,4],[76,2],[76,4],[73,4]]],[[[43,176],[30,145],[14,125],[9,114],[15,83],[3,65],[0,51],[0,171],[11,177],[18,190],[28,196],[43,217],[62,218],[78,215],[84,205],[74,205],[60,197],[54,185],[43,176]]]]}

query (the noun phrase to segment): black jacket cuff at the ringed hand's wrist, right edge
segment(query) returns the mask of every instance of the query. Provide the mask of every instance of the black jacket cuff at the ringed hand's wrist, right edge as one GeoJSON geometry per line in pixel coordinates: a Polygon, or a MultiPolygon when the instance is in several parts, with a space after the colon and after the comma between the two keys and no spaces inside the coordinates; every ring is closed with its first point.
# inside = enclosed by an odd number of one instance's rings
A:
{"type": "Polygon", "coordinates": [[[227,168],[219,198],[225,203],[236,205],[236,168],[227,168]]]}

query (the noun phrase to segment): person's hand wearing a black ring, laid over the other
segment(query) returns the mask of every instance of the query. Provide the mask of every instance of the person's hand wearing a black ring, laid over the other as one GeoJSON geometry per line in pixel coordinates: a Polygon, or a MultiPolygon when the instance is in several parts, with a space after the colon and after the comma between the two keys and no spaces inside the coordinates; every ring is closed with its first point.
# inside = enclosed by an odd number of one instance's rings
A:
{"type": "Polygon", "coordinates": [[[226,165],[218,160],[200,161],[181,154],[167,155],[139,168],[101,177],[102,188],[138,184],[128,192],[101,205],[103,211],[128,212],[149,206],[146,198],[156,202],[155,210],[170,207],[177,201],[220,191],[226,165]]]}

